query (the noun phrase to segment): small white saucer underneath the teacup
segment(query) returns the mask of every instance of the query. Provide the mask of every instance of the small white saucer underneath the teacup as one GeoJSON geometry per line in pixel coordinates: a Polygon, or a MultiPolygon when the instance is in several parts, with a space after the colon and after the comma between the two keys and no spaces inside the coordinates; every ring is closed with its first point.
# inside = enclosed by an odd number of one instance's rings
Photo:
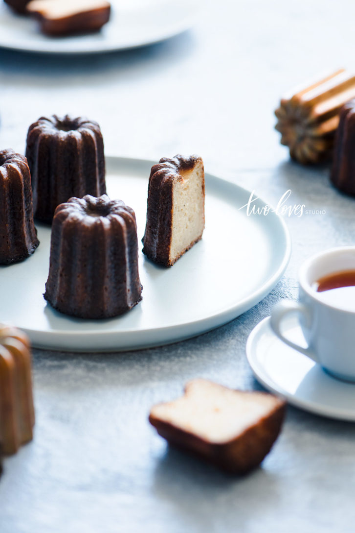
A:
{"type": "MultiPolygon", "coordinates": [[[[304,341],[296,318],[285,319],[285,335],[304,341]]],[[[255,377],[292,405],[317,415],[355,421],[355,384],[328,375],[319,365],[289,348],[270,327],[270,317],[256,326],[246,343],[255,377]]]]}

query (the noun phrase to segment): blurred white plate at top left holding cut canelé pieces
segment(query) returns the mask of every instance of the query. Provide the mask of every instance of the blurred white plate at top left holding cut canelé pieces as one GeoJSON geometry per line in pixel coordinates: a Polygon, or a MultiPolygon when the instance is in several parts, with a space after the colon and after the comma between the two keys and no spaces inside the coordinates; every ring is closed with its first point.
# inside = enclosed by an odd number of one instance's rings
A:
{"type": "Polygon", "coordinates": [[[200,0],[111,0],[110,21],[93,34],[47,37],[38,22],[0,3],[0,46],[27,52],[80,54],[157,43],[190,28],[200,0]]]}

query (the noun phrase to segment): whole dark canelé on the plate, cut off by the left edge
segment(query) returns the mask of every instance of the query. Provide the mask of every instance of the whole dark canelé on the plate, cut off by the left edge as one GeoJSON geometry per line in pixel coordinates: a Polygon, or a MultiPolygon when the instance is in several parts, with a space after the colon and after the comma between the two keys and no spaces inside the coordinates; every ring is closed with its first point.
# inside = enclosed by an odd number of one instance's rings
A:
{"type": "Polygon", "coordinates": [[[22,261],[39,245],[26,158],[0,152],[0,264],[22,261]]]}

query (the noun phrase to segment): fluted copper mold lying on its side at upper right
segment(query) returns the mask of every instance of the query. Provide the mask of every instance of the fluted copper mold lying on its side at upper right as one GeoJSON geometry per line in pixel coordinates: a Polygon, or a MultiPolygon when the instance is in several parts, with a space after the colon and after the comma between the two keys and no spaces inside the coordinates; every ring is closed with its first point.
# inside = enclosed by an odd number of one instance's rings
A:
{"type": "Polygon", "coordinates": [[[340,109],[354,97],[355,76],[344,69],[286,94],[275,111],[275,128],[292,159],[312,164],[331,158],[340,109]]]}

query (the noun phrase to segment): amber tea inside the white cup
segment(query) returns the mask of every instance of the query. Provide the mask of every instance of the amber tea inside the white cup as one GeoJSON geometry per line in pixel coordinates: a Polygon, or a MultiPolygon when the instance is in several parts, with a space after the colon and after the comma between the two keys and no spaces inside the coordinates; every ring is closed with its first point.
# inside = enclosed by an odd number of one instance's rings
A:
{"type": "Polygon", "coordinates": [[[325,303],[340,309],[355,311],[355,270],[333,272],[312,285],[325,303]]]}

